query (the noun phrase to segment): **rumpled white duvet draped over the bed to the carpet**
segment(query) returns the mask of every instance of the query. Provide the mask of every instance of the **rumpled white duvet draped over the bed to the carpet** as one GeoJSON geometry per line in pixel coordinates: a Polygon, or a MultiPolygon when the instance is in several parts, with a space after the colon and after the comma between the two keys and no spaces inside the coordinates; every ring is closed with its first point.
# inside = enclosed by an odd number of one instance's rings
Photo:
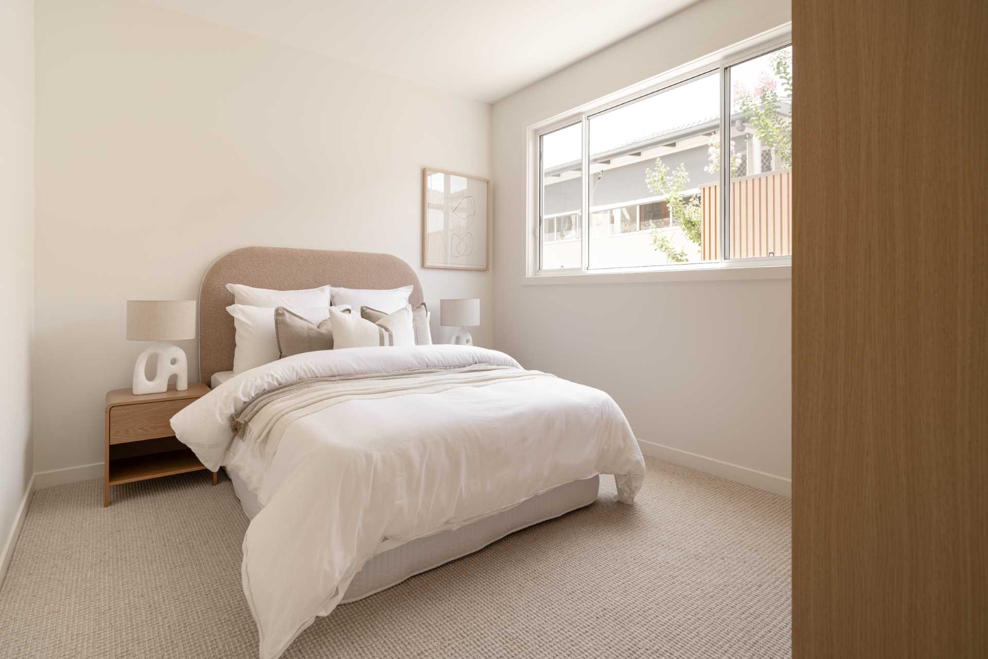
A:
{"type": "Polygon", "coordinates": [[[227,380],[171,424],[209,469],[236,469],[264,505],[244,537],[242,565],[262,659],[280,656],[332,612],[382,551],[596,474],[615,474],[618,499],[629,504],[644,477],[641,452],[609,395],[521,371],[504,353],[472,346],[296,355],[227,380]],[[473,365],[509,369],[357,387],[278,423],[262,409],[264,432],[248,429],[244,439],[231,429],[231,417],[255,396],[301,379],[473,365]],[[269,427],[278,429],[277,443],[269,427]]]}

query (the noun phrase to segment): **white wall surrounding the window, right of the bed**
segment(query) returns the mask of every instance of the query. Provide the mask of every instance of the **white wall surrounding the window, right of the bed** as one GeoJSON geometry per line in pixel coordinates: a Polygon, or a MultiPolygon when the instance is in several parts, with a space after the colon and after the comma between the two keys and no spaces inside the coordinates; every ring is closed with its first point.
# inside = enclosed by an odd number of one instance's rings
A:
{"type": "Polygon", "coordinates": [[[790,282],[527,286],[526,130],[789,17],[788,0],[705,0],[497,103],[493,124],[498,349],[609,392],[641,440],[767,472],[779,489],[791,473],[790,282]]]}

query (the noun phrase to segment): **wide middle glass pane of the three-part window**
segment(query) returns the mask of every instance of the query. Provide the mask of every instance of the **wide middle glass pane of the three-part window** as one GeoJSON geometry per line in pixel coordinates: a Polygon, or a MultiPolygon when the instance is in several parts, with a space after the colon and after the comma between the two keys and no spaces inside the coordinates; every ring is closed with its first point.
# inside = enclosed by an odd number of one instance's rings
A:
{"type": "Polygon", "coordinates": [[[716,260],[716,72],[590,118],[590,268],[716,260]]]}

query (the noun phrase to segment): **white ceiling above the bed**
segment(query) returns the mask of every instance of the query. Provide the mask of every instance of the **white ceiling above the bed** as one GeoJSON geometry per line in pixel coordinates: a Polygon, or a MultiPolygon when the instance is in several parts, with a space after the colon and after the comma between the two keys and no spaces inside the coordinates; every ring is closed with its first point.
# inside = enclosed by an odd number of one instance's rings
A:
{"type": "Polygon", "coordinates": [[[494,103],[695,0],[144,0],[494,103]]]}

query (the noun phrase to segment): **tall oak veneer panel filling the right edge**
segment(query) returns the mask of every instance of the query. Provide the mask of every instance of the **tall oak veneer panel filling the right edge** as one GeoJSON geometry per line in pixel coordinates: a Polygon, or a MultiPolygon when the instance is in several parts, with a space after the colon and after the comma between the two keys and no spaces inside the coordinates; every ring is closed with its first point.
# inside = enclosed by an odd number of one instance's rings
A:
{"type": "Polygon", "coordinates": [[[988,2],[793,3],[793,654],[988,648],[988,2]]]}

